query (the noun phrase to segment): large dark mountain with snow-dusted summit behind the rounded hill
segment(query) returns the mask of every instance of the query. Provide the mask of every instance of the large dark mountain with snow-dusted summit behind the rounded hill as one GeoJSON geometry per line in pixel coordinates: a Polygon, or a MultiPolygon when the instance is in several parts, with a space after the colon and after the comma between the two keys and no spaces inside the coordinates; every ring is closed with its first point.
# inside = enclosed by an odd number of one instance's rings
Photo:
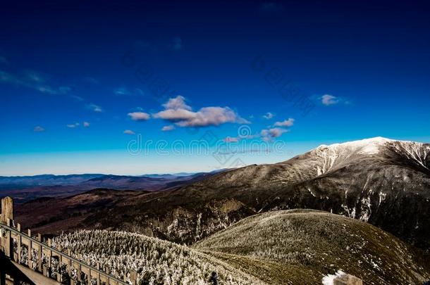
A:
{"type": "Polygon", "coordinates": [[[428,250],[429,168],[430,144],[378,137],[319,146],[167,191],[100,189],[26,203],[17,213],[42,232],[124,229],[190,244],[256,213],[311,208],[369,222],[428,250]]]}

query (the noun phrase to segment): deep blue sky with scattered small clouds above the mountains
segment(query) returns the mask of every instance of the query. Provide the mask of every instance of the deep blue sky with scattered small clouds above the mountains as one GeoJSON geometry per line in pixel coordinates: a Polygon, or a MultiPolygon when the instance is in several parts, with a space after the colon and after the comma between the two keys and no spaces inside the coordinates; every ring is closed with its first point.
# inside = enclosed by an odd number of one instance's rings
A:
{"type": "Polygon", "coordinates": [[[430,141],[426,1],[2,4],[0,175],[199,172],[430,141]]]}

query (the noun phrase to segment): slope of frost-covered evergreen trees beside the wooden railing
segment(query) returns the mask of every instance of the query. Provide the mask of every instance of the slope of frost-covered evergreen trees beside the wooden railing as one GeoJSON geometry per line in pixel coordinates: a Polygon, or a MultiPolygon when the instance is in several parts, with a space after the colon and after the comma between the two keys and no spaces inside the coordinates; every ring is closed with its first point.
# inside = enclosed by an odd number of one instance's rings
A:
{"type": "Polygon", "coordinates": [[[130,281],[128,273],[136,270],[137,284],[261,284],[202,252],[141,234],[82,230],[56,237],[53,246],[59,244],[90,265],[99,262],[100,268],[120,279],[130,281]]]}

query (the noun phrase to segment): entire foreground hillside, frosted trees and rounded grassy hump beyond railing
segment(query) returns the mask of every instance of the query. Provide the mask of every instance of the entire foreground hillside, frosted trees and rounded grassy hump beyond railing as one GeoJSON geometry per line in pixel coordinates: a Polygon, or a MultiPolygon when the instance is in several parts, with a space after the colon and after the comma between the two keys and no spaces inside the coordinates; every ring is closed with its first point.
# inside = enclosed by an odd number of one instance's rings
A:
{"type": "Polygon", "coordinates": [[[133,268],[137,284],[321,284],[339,270],[364,284],[430,278],[422,251],[367,222],[316,210],[253,215],[192,247],[107,230],[61,234],[55,245],[121,278],[133,268]]]}

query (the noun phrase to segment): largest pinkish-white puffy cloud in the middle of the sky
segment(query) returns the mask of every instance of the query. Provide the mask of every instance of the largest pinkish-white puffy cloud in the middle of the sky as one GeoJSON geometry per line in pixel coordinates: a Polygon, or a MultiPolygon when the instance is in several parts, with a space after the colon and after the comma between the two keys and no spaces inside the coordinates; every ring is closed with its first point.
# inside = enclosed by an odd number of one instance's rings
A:
{"type": "Polygon", "coordinates": [[[179,127],[218,126],[226,122],[250,123],[228,107],[204,107],[194,112],[185,103],[183,96],[169,99],[163,106],[165,110],[155,113],[153,117],[174,122],[179,127]]]}

